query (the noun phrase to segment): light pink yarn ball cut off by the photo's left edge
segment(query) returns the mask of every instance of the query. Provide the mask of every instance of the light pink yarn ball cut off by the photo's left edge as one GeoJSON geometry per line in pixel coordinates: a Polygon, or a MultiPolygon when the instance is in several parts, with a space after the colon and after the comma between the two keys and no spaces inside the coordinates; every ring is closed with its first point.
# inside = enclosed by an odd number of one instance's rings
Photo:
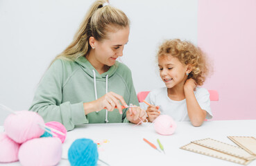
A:
{"type": "Polygon", "coordinates": [[[10,139],[6,133],[0,133],[0,163],[11,163],[18,160],[20,144],[10,139]]]}

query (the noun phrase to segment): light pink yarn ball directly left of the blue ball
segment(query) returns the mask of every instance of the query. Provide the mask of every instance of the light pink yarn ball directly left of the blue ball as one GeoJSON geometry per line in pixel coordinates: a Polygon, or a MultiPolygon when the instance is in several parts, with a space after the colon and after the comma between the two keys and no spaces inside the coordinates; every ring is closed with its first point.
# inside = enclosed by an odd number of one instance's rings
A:
{"type": "Polygon", "coordinates": [[[59,138],[35,138],[24,142],[19,148],[19,162],[26,166],[57,165],[62,155],[59,138]]]}

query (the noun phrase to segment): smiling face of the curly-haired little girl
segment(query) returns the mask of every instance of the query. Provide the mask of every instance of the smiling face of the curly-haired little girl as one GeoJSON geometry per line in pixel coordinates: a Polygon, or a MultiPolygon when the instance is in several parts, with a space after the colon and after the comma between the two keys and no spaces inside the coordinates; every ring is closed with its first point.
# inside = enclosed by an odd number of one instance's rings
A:
{"type": "Polygon", "coordinates": [[[161,55],[158,57],[158,66],[160,77],[167,88],[171,89],[175,86],[184,86],[187,80],[187,65],[182,64],[177,57],[161,55]]]}

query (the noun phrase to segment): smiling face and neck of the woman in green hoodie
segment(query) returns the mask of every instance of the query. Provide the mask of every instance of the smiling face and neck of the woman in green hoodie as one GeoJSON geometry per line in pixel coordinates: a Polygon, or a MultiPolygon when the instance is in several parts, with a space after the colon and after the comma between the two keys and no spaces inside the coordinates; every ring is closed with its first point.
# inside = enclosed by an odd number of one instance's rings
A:
{"type": "Polygon", "coordinates": [[[94,47],[93,65],[112,66],[114,65],[117,57],[123,56],[123,47],[128,42],[130,28],[121,28],[115,32],[108,33],[108,39],[97,41],[94,39],[91,46],[94,47]]]}

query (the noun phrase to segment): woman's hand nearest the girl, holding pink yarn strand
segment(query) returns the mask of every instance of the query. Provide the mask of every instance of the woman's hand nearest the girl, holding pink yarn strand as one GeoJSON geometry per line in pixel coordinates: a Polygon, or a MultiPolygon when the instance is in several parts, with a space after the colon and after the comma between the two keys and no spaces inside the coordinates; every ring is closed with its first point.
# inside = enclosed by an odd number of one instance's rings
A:
{"type": "Polygon", "coordinates": [[[130,122],[138,124],[141,120],[144,121],[146,119],[146,111],[140,107],[131,107],[126,112],[126,118],[130,122]]]}

